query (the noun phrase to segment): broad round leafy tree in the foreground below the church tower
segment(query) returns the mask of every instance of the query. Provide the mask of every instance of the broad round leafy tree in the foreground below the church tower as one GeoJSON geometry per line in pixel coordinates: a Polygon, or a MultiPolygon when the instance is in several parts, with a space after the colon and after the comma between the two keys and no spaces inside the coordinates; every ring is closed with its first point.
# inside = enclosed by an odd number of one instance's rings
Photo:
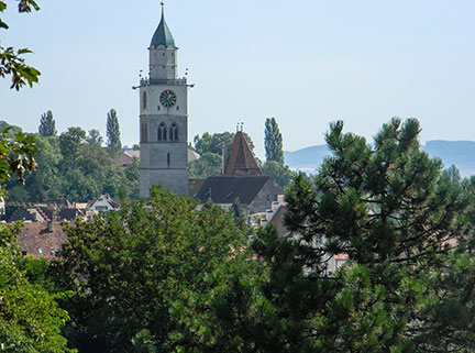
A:
{"type": "MultiPolygon", "coordinates": [[[[55,264],[73,297],[64,302],[80,352],[173,352],[187,344],[180,326],[189,310],[224,280],[224,267],[246,266],[245,234],[216,206],[153,189],[146,202],[123,205],[91,222],[66,225],[68,242],[55,264]],[[196,298],[195,301],[192,298],[196,298]]],[[[196,332],[200,335],[200,332],[196,332]]]]}

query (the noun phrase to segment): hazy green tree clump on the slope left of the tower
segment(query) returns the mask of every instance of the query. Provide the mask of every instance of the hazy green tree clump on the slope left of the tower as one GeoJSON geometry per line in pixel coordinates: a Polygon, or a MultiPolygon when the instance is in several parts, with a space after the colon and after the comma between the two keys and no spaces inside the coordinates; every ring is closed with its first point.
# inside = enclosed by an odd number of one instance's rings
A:
{"type": "MultiPolygon", "coordinates": [[[[100,136],[99,136],[100,137],[100,136]]],[[[111,156],[98,143],[88,140],[80,128],[69,128],[59,136],[34,135],[38,167],[25,177],[24,188],[13,181],[5,184],[12,201],[36,201],[66,197],[70,201],[85,202],[100,195],[117,198],[123,191],[131,198],[139,197],[139,162],[126,167],[114,164],[111,156]]]]}

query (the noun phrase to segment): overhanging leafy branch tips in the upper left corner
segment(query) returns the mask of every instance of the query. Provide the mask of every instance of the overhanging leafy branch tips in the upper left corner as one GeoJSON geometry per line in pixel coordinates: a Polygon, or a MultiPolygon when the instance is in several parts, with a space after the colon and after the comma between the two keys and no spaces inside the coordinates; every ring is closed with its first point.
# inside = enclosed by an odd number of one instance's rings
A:
{"type": "MultiPolygon", "coordinates": [[[[31,9],[40,10],[40,7],[33,0],[20,0],[19,12],[30,12],[31,9]]],[[[0,0],[0,13],[7,10],[7,2],[0,0]]],[[[8,30],[9,25],[0,19],[0,29],[8,30]]],[[[14,49],[13,47],[3,47],[0,45],[0,77],[11,75],[11,87],[16,90],[25,86],[30,87],[37,82],[41,75],[37,69],[25,64],[22,55],[31,53],[27,48],[14,49]]]]}

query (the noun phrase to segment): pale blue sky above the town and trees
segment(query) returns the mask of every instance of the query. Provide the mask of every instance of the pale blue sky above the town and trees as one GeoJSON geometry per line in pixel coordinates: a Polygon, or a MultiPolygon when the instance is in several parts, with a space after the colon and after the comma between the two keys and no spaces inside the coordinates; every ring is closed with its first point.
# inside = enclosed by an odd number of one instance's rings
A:
{"type": "MultiPolygon", "coordinates": [[[[52,110],[57,129],[106,132],[114,108],[122,142],[139,141],[139,98],[159,1],[40,0],[18,14],[7,0],[3,46],[27,46],[41,84],[0,82],[0,120],[36,131],[52,110]]],[[[475,140],[473,0],[169,0],[168,26],[189,68],[189,140],[234,131],[263,157],[264,121],[276,117],[284,147],[322,144],[330,121],[371,137],[393,115],[416,117],[422,141],[475,140]]]]}

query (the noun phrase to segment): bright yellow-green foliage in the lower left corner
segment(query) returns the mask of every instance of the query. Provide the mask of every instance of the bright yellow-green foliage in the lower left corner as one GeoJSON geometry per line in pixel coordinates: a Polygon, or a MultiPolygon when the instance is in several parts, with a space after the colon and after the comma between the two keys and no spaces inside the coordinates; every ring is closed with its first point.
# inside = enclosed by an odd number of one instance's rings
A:
{"type": "MultiPolygon", "coordinates": [[[[65,294],[51,294],[40,278],[41,272],[27,269],[37,277],[29,282],[20,269],[20,251],[16,235],[20,225],[0,228],[0,342],[5,352],[70,352],[60,328],[68,320],[67,312],[58,308],[56,300],[65,294]]],[[[36,267],[37,268],[37,267],[36,267]]]]}

